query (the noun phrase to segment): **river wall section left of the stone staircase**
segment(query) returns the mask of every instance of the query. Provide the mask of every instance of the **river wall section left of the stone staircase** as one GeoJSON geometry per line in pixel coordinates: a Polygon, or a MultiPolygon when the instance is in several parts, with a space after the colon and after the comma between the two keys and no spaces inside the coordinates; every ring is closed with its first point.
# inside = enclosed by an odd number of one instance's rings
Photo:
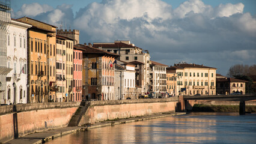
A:
{"type": "Polygon", "coordinates": [[[27,134],[66,127],[80,103],[0,106],[0,143],[27,134]]]}

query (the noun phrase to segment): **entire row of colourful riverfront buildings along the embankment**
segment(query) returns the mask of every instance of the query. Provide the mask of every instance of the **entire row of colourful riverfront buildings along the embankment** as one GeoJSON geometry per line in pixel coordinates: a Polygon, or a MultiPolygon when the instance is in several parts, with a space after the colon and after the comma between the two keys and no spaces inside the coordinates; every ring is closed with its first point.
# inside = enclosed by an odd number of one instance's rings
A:
{"type": "MultiPolygon", "coordinates": [[[[78,30],[5,18],[0,104],[216,94],[216,68],[186,62],[169,67],[130,41],[79,44],[78,30]]],[[[237,86],[245,92],[245,84],[237,86]]]]}

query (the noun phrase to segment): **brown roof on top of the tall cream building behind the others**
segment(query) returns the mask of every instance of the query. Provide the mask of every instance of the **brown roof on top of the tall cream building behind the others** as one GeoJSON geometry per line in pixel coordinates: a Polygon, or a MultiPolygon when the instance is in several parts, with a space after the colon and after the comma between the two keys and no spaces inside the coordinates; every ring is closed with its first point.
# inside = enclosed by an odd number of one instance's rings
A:
{"type": "MultiPolygon", "coordinates": [[[[118,42],[118,43],[94,43],[93,47],[103,47],[103,48],[139,48],[132,46],[130,44],[118,42]]],[[[141,48],[139,48],[141,49],[141,48]]]]}

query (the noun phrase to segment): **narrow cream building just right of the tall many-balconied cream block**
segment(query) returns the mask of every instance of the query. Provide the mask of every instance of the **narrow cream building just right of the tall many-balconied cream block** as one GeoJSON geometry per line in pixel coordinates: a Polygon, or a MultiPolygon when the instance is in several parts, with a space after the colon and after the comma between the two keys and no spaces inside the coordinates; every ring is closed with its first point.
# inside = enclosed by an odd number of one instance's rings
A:
{"type": "Polygon", "coordinates": [[[155,98],[168,97],[166,89],[166,67],[168,65],[160,64],[155,61],[150,61],[150,89],[155,98]]]}

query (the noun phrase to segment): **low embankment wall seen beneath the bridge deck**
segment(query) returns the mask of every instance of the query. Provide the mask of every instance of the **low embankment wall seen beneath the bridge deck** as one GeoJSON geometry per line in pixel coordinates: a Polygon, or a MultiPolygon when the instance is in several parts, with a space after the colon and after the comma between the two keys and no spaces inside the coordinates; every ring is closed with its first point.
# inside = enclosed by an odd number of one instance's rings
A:
{"type": "MultiPolygon", "coordinates": [[[[184,101],[185,110],[191,111],[194,104],[204,104],[207,106],[239,106],[240,101],[186,100],[184,101]]],[[[256,100],[245,101],[245,105],[256,106],[256,100]]]]}

